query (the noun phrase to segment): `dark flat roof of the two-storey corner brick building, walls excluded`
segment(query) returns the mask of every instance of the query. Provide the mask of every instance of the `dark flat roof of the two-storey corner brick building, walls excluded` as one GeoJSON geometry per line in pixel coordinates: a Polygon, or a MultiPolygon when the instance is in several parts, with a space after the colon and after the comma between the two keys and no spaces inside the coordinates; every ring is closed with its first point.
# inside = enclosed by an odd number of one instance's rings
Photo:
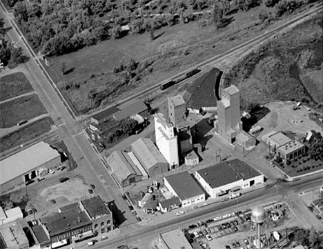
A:
{"type": "Polygon", "coordinates": [[[106,204],[104,204],[104,201],[102,201],[99,195],[90,199],[85,199],[81,201],[81,203],[92,219],[97,219],[104,215],[110,215],[110,210],[106,204]]]}

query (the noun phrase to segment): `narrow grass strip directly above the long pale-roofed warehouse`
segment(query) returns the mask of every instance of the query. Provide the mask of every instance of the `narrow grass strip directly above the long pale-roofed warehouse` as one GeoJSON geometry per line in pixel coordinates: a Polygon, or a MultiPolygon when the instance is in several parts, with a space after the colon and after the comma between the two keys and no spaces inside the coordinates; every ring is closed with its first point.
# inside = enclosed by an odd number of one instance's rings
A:
{"type": "Polygon", "coordinates": [[[43,133],[48,132],[52,124],[52,119],[50,117],[45,117],[30,123],[28,126],[25,126],[20,130],[1,137],[0,152],[4,152],[10,148],[21,145],[21,143],[25,143],[26,141],[39,137],[43,133]]]}

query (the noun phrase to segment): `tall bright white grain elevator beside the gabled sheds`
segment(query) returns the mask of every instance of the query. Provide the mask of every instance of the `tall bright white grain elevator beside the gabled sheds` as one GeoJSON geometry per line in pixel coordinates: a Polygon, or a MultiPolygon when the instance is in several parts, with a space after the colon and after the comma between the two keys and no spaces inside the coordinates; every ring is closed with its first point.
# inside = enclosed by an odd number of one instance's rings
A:
{"type": "Polygon", "coordinates": [[[169,169],[177,168],[177,166],[179,166],[179,157],[177,136],[174,132],[174,126],[167,123],[161,113],[155,114],[154,119],[157,147],[161,152],[161,155],[163,155],[169,163],[169,169]]]}

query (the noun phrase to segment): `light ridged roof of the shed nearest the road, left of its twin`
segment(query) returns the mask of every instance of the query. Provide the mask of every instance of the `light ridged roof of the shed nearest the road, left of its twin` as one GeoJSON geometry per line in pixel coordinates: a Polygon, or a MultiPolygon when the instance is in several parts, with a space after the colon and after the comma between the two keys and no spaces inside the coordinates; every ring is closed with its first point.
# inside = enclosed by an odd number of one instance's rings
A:
{"type": "Polygon", "coordinates": [[[130,175],[141,175],[141,172],[130,157],[120,150],[112,152],[106,161],[119,181],[124,181],[130,175]]]}

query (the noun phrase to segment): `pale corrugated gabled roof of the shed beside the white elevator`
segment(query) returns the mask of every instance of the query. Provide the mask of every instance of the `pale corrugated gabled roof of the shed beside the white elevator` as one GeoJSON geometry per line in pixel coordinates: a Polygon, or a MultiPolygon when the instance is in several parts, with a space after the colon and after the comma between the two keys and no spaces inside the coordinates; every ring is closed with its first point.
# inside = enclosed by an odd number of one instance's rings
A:
{"type": "Polygon", "coordinates": [[[131,149],[146,169],[154,167],[157,163],[167,163],[150,139],[137,139],[131,144],[131,149]]]}

